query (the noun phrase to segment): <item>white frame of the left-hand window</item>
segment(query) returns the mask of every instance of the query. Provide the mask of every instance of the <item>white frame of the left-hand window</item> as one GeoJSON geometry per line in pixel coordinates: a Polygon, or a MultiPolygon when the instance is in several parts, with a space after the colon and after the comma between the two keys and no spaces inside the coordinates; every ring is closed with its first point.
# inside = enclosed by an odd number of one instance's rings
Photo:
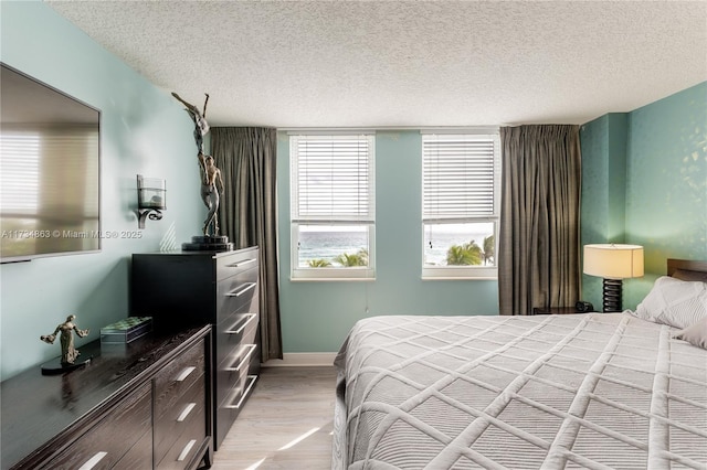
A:
{"type": "Polygon", "coordinates": [[[291,131],[289,137],[289,225],[291,225],[291,280],[374,280],[376,279],[376,133],[374,131],[291,131]],[[366,214],[329,214],[327,216],[306,216],[299,213],[299,139],[341,140],[358,137],[367,141],[368,174],[366,214]],[[368,228],[368,266],[363,267],[300,267],[299,233],[300,225],[347,226],[360,225],[368,228]]]}

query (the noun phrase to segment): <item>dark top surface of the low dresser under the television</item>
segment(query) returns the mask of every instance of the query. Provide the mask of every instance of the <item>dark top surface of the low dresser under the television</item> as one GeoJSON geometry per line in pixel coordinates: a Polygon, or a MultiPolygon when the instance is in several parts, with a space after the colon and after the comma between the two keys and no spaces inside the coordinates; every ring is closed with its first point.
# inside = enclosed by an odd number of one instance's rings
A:
{"type": "Polygon", "coordinates": [[[93,355],[82,368],[42,375],[38,365],[2,382],[1,468],[10,468],[78,421],[99,415],[101,408],[129,394],[210,331],[207,325],[151,333],[127,345],[103,348],[96,340],[78,348],[78,360],[93,355]]]}

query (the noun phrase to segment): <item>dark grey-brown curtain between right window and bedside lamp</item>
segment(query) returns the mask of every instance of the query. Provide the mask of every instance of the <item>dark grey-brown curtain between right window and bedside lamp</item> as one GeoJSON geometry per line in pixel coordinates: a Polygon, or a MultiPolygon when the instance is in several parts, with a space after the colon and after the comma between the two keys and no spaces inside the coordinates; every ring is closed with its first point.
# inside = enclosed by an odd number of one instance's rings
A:
{"type": "Polygon", "coordinates": [[[571,307],[580,297],[579,126],[500,128],[500,314],[571,307]]]}

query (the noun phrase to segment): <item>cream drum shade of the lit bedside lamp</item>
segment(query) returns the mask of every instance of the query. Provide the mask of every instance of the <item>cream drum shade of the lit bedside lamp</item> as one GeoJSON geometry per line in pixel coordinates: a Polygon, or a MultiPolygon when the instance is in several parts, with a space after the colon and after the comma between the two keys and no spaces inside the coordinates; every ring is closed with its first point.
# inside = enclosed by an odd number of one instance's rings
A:
{"type": "Polygon", "coordinates": [[[604,279],[643,276],[643,247],[640,245],[584,245],[584,274],[604,279]]]}

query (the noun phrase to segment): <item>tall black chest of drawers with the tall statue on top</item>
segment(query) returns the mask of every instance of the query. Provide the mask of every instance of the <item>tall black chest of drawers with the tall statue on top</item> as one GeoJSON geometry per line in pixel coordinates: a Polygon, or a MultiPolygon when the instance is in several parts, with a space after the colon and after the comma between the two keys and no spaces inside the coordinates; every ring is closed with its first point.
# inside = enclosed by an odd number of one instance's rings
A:
{"type": "Polygon", "coordinates": [[[258,249],[133,255],[130,312],[156,331],[213,329],[213,438],[219,448],[260,373],[258,249]]]}

